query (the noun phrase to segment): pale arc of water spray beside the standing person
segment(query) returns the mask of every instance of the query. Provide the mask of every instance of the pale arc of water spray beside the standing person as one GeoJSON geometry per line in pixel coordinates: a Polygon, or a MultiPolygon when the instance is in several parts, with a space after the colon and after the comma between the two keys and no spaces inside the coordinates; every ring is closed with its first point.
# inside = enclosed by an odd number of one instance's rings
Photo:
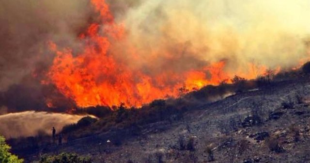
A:
{"type": "Polygon", "coordinates": [[[63,126],[77,123],[82,117],[34,111],[0,115],[0,134],[6,138],[36,136],[42,132],[50,134],[52,127],[59,132],[63,126]]]}

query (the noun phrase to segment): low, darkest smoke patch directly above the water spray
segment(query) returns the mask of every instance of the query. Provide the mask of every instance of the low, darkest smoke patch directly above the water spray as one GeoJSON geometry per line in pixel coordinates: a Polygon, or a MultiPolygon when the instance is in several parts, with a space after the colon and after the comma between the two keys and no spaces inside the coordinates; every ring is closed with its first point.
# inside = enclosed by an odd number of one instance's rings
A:
{"type": "Polygon", "coordinates": [[[64,97],[55,86],[41,85],[40,81],[29,75],[21,83],[0,92],[0,115],[28,110],[66,112],[72,108],[76,108],[72,99],[64,97]],[[50,102],[53,105],[48,106],[50,102]]]}

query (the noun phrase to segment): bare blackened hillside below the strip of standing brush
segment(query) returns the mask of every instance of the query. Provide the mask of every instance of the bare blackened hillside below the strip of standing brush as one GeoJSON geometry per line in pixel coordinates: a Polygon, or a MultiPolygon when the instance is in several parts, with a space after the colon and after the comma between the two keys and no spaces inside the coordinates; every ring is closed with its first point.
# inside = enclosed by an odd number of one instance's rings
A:
{"type": "Polygon", "coordinates": [[[176,121],[112,129],[17,153],[91,155],[95,163],[310,162],[310,81],[285,81],[187,111],[176,121]]]}

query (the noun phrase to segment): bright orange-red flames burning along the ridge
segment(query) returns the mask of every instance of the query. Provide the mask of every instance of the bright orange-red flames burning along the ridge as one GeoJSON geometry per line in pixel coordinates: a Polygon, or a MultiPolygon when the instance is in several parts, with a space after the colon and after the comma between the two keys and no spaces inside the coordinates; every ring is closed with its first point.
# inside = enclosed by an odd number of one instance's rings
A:
{"type": "MultiPolygon", "coordinates": [[[[73,99],[79,107],[97,105],[141,106],[154,99],[176,97],[180,88],[196,90],[208,84],[218,84],[231,79],[225,72],[225,61],[214,62],[202,69],[193,68],[185,72],[162,70],[156,75],[130,67],[113,55],[112,42],[126,37],[123,24],[117,24],[105,0],[91,0],[96,12],[100,13],[102,24],[91,24],[85,33],[79,35],[84,49],[73,54],[71,48],[58,49],[53,42],[49,47],[56,53],[53,65],[47,75],[52,83],[67,98],[73,99]]],[[[134,47],[134,46],[131,46],[134,47]]],[[[135,48],[131,58],[137,58],[135,48]]],[[[173,55],[173,54],[169,54],[173,55]]],[[[255,78],[266,71],[266,67],[249,65],[246,78],[255,78]]],[[[49,102],[47,106],[52,106],[49,102]]]]}

